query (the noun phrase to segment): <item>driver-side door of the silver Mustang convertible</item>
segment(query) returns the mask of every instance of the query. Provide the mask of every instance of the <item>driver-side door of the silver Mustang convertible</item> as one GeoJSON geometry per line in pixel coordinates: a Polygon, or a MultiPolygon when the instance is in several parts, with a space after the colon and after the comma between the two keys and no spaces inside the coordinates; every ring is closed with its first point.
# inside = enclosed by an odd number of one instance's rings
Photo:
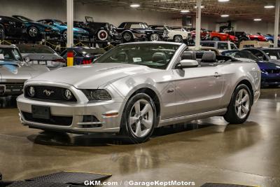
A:
{"type": "Polygon", "coordinates": [[[224,77],[218,66],[173,69],[176,116],[221,108],[224,77]]]}

